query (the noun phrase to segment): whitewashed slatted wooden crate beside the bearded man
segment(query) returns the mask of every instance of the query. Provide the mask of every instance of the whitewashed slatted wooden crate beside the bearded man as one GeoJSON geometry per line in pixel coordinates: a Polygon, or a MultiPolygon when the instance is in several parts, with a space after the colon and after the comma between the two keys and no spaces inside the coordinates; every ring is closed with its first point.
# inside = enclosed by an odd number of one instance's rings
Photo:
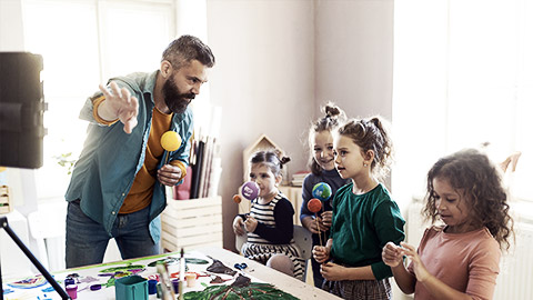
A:
{"type": "Polygon", "coordinates": [[[185,251],[222,247],[222,197],[167,200],[161,214],[161,247],[164,251],[185,251]]]}

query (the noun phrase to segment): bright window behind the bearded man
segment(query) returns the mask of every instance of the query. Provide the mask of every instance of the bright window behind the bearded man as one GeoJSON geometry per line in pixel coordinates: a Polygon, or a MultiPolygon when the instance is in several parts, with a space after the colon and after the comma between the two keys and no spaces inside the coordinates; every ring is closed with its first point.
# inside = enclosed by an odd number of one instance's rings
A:
{"type": "Polygon", "coordinates": [[[87,122],[79,120],[86,99],[110,77],[159,68],[175,34],[173,1],[26,0],[24,42],[43,57],[44,164],[38,170],[39,198],[62,197],[67,168],[78,159],[87,122]]]}

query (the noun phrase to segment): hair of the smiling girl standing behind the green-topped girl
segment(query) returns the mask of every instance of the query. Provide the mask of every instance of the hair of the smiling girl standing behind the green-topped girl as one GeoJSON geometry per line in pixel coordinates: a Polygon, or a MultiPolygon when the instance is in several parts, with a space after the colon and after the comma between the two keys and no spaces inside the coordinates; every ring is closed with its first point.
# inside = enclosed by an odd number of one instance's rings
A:
{"type": "MultiPolygon", "coordinates": [[[[332,132],[339,127],[342,121],[345,120],[344,111],[332,102],[328,102],[325,107],[322,108],[322,111],[325,113],[325,116],[314,121],[309,129],[308,142],[310,148],[312,148],[314,143],[313,138],[315,133],[322,131],[332,132]]],[[[309,167],[311,169],[311,172],[315,176],[320,176],[322,173],[322,167],[320,167],[320,164],[314,159],[312,151],[310,157],[311,158],[309,161],[309,167]]]]}

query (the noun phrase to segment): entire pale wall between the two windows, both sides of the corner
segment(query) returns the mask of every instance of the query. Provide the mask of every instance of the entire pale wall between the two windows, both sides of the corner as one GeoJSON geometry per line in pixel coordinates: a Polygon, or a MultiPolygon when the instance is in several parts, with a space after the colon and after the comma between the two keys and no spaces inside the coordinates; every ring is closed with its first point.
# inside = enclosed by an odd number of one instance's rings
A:
{"type": "Polygon", "coordinates": [[[223,109],[225,248],[234,244],[231,197],[242,184],[242,150],[261,133],[291,157],[291,176],[306,169],[306,131],[326,100],[349,116],[390,120],[392,11],[392,0],[208,0],[218,61],[211,101],[223,109]]]}

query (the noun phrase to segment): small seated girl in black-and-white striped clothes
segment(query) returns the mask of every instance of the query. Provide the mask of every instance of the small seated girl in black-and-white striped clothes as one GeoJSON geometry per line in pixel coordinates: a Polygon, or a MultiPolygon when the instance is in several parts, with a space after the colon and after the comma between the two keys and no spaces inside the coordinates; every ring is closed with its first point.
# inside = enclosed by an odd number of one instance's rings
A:
{"type": "Polygon", "coordinates": [[[278,189],[281,169],[289,161],[274,150],[252,154],[249,178],[258,183],[259,196],[252,200],[250,214],[235,217],[233,231],[238,236],[248,232],[248,241],[239,249],[245,258],[301,280],[304,260],[293,240],[294,209],[278,189]]]}

